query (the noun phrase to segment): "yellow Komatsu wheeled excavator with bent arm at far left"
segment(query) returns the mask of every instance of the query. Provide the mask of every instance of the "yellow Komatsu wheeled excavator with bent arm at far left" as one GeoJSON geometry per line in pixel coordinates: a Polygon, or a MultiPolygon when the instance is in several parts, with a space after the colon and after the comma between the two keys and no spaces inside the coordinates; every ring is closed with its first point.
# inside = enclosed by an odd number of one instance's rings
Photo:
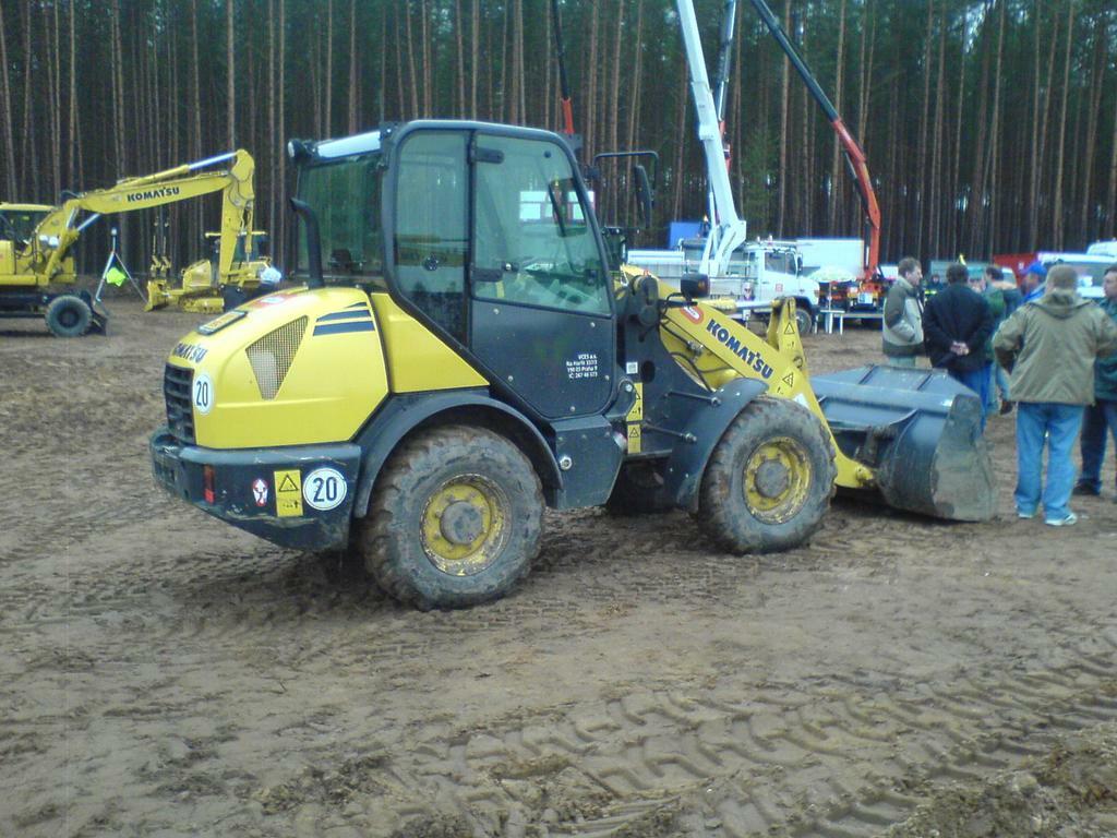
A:
{"type": "Polygon", "coordinates": [[[161,207],[213,192],[222,192],[223,199],[216,282],[208,263],[204,270],[201,264],[191,266],[188,276],[204,275],[204,288],[193,282],[171,289],[165,279],[155,280],[149,307],[208,297],[218,301],[217,305],[195,311],[220,311],[221,285],[255,288],[260,272],[268,266],[254,247],[254,170],[251,155],[238,150],[127,178],[105,189],[70,193],[57,207],[0,204],[0,317],[42,316],[60,337],[103,331],[107,314],[99,301],[87,291],[61,289],[77,280],[73,246],[82,232],[103,215],[161,207]]]}

